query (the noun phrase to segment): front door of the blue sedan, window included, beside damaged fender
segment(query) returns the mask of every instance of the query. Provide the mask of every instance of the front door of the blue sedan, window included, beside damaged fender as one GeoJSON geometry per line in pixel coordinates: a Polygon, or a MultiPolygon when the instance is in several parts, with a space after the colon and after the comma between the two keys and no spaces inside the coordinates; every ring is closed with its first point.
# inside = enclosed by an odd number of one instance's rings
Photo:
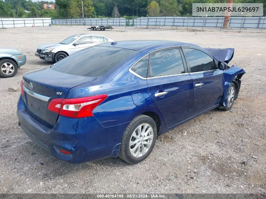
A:
{"type": "Polygon", "coordinates": [[[223,95],[223,70],[201,49],[182,47],[194,86],[195,114],[218,105],[223,95]]]}

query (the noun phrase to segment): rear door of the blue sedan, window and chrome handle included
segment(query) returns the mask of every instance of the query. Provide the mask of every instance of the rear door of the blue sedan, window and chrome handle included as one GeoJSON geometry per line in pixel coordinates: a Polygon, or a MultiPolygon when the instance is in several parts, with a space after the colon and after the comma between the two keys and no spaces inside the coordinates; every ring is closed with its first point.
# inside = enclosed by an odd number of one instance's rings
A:
{"type": "Polygon", "coordinates": [[[167,127],[193,115],[194,91],[181,48],[167,48],[150,54],[148,93],[167,127]]]}

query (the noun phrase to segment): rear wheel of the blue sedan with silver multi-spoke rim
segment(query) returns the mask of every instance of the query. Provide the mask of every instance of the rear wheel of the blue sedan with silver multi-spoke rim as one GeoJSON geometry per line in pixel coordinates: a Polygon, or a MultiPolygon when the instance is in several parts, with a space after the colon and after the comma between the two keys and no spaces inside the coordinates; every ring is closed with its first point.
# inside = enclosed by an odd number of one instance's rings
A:
{"type": "MultiPolygon", "coordinates": [[[[138,135],[140,135],[140,134],[138,134],[138,135]]],[[[119,151],[119,157],[122,160],[124,160],[130,164],[136,164],[136,163],[143,161],[144,159],[146,159],[150,155],[150,152],[152,151],[152,149],[155,145],[156,138],[157,138],[157,127],[156,127],[155,121],[147,115],[139,115],[139,116],[135,117],[130,122],[130,124],[128,124],[128,126],[124,132],[124,135],[122,136],[121,146],[120,146],[120,151],[119,151]],[[130,141],[131,141],[131,139],[133,139],[132,134],[137,129],[137,127],[139,127],[141,124],[149,124],[151,126],[151,128],[153,130],[153,139],[152,139],[152,142],[150,143],[150,147],[148,148],[148,151],[143,156],[134,157],[130,152],[130,141]]],[[[133,140],[133,141],[135,141],[135,140],[133,140]]],[[[145,139],[142,139],[142,142],[143,141],[146,142],[145,139]]],[[[136,144],[138,144],[138,143],[139,142],[136,142],[136,144]]],[[[134,148],[134,146],[136,146],[136,144],[131,146],[131,147],[134,148]]],[[[139,145],[141,145],[141,143],[139,145]]],[[[142,145],[142,146],[144,146],[144,145],[142,145]]],[[[146,147],[147,147],[147,145],[146,145],[146,147]]],[[[142,150],[143,150],[143,148],[142,148],[142,150]]]]}

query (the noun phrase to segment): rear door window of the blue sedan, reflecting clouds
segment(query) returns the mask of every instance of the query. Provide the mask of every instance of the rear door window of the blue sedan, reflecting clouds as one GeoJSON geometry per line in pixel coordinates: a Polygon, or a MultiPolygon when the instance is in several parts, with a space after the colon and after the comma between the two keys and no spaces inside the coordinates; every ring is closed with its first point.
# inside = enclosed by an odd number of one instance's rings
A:
{"type": "Polygon", "coordinates": [[[150,56],[149,77],[178,75],[182,73],[185,73],[185,69],[178,48],[160,51],[150,56]]]}

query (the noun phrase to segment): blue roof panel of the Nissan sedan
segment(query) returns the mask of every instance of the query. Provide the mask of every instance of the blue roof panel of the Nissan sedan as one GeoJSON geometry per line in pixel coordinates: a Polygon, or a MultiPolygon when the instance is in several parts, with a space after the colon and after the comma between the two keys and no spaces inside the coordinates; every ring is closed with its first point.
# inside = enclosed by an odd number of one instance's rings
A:
{"type": "Polygon", "coordinates": [[[130,49],[130,50],[135,50],[135,51],[140,51],[140,50],[144,50],[148,48],[157,49],[157,48],[164,48],[164,47],[171,47],[171,46],[199,47],[191,43],[184,43],[184,42],[178,42],[178,41],[163,41],[163,40],[113,41],[109,43],[102,43],[102,44],[99,44],[98,46],[118,47],[118,48],[125,48],[125,49],[130,49]]]}

